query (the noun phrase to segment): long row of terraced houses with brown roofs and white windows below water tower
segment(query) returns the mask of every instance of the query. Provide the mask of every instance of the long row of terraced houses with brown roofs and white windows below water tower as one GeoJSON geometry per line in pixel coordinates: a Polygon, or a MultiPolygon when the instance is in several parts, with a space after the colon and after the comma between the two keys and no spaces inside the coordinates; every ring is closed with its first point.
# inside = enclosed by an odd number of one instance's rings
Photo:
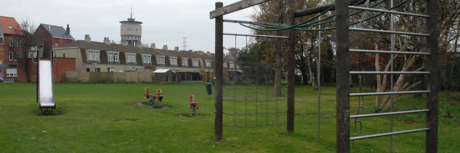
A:
{"type": "MultiPolygon", "coordinates": [[[[155,69],[167,69],[176,74],[198,74],[200,80],[214,77],[214,53],[179,50],[169,50],[167,45],[162,49],[155,44],[150,47],[142,45],[127,45],[125,43],[110,43],[109,38],[104,42],[91,41],[89,35],[85,40],[76,40],[55,48],[57,58],[75,58],[76,71],[88,72],[129,72],[155,69]]],[[[223,69],[227,73],[237,71],[234,58],[224,57],[223,69]]]]}

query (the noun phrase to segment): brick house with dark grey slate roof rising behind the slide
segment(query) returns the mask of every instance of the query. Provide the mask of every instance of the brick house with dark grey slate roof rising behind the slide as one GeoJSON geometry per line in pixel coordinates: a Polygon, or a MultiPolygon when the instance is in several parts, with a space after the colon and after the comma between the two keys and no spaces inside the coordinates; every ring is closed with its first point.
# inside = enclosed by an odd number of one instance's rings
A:
{"type": "Polygon", "coordinates": [[[70,34],[70,27],[67,24],[67,28],[51,24],[38,25],[37,30],[35,30],[34,36],[41,41],[43,41],[43,57],[50,57],[50,50],[52,47],[60,47],[66,43],[73,42],[75,39],[70,34]]]}

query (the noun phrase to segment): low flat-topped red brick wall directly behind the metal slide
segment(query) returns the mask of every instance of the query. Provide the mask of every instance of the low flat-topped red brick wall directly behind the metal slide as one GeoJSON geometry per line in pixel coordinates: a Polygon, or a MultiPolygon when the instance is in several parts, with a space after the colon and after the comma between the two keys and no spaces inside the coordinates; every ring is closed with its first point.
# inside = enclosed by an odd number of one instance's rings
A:
{"type": "MultiPolygon", "coordinates": [[[[50,60],[49,58],[42,58],[41,60],[50,60]]],[[[53,58],[53,61],[56,59],[53,58]]],[[[29,80],[36,82],[35,78],[37,74],[37,65],[34,65],[29,60],[29,80]]],[[[53,65],[54,82],[62,82],[66,71],[75,71],[75,59],[74,58],[57,58],[57,63],[53,65]]],[[[17,81],[26,82],[26,73],[21,69],[17,68],[17,81]]]]}

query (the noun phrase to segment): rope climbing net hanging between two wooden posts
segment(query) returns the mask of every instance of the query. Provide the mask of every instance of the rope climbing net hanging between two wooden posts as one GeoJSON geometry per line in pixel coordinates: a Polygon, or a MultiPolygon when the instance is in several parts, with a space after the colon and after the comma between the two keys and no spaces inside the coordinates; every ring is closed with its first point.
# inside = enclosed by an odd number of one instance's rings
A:
{"type": "MultiPolygon", "coordinates": [[[[276,52],[248,49],[235,60],[238,68],[224,73],[223,126],[263,127],[286,123],[287,98],[273,95],[276,52]]],[[[285,54],[282,52],[281,54],[285,54]]],[[[225,64],[225,63],[224,63],[225,64]]],[[[285,78],[285,74],[280,75],[285,78]]],[[[281,85],[280,90],[286,91],[281,85]]],[[[284,95],[284,96],[283,96],[284,95]]]]}

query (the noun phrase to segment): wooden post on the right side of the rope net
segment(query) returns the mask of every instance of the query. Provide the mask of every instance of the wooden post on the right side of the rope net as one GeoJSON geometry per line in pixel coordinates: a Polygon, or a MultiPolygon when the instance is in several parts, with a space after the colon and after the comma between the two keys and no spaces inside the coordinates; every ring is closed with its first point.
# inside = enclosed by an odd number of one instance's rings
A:
{"type": "MultiPolygon", "coordinates": [[[[289,25],[295,24],[294,10],[292,8],[288,12],[289,14],[289,25]]],[[[288,59],[288,93],[287,93],[287,133],[294,133],[294,55],[295,55],[295,30],[289,29],[289,41],[287,50],[288,59]]]]}

